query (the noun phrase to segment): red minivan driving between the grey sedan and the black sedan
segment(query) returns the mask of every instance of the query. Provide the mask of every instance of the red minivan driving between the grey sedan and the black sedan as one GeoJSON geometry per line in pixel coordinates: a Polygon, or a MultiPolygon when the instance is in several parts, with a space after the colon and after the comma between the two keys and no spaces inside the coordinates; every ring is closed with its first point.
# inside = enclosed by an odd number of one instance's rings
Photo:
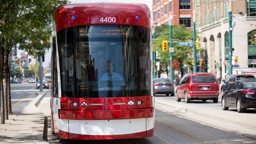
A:
{"type": "Polygon", "coordinates": [[[207,72],[192,72],[185,74],[176,89],[176,101],[185,99],[185,103],[190,100],[213,100],[218,103],[219,83],[216,77],[207,72]]]}

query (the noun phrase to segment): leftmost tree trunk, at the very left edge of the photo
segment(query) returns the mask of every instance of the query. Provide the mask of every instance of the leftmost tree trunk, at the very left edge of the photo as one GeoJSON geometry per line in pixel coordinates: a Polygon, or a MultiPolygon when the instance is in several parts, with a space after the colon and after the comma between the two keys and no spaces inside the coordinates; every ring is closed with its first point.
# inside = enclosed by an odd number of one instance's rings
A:
{"type": "Polygon", "coordinates": [[[4,48],[0,47],[0,104],[1,104],[1,109],[0,109],[0,124],[5,123],[4,115],[4,87],[3,87],[3,72],[1,71],[4,69],[4,48]]]}

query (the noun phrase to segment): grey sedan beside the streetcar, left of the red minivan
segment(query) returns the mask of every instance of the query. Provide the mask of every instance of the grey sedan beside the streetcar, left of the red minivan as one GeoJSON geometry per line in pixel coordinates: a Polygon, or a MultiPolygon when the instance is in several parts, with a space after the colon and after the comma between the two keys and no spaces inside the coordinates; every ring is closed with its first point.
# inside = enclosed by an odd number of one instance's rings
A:
{"type": "Polygon", "coordinates": [[[166,94],[166,96],[174,96],[173,83],[168,78],[153,79],[153,94],[166,94]]]}

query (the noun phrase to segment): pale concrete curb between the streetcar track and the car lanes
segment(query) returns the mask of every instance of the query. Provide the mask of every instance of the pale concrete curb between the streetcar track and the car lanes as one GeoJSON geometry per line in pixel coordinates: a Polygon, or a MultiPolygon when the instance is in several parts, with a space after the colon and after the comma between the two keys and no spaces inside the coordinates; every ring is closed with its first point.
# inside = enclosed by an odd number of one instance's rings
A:
{"type": "MultiPolygon", "coordinates": [[[[158,101],[156,101],[156,103],[166,105],[165,103],[161,103],[161,102],[158,102],[158,101]]],[[[176,106],[173,106],[173,105],[169,105],[169,106],[173,107],[176,110],[181,111],[181,112],[195,114],[197,116],[201,116],[201,117],[204,117],[204,118],[209,118],[209,119],[212,119],[212,120],[224,122],[226,124],[234,124],[234,125],[237,125],[237,126],[241,126],[241,127],[256,131],[256,126],[253,125],[253,124],[242,123],[242,122],[239,122],[239,121],[236,121],[236,120],[232,120],[232,118],[228,119],[228,118],[218,116],[216,114],[213,114],[213,115],[207,114],[207,113],[204,113],[204,112],[200,112],[200,110],[180,108],[180,107],[176,107],[176,106]]]]}

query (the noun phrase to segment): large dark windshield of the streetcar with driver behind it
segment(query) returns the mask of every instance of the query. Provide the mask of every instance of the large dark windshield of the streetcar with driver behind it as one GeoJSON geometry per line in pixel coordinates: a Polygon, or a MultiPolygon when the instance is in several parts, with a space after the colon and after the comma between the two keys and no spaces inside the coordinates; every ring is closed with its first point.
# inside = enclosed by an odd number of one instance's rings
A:
{"type": "Polygon", "coordinates": [[[130,97],[151,93],[151,31],[87,25],[57,33],[62,97],[130,97]]]}

